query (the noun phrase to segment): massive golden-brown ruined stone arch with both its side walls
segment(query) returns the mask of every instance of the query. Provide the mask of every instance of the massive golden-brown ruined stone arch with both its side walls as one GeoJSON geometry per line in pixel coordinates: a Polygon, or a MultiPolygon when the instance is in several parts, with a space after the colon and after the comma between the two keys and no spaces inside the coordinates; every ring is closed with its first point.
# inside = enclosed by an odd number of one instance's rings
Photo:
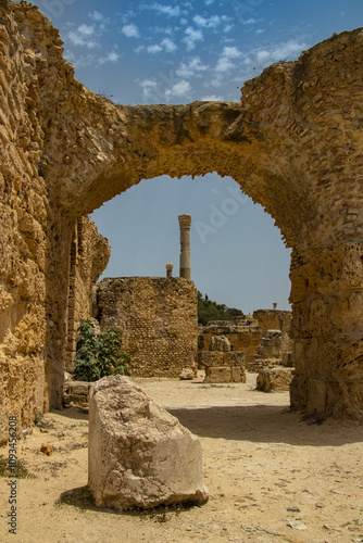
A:
{"type": "Polygon", "coordinates": [[[362,419],[362,30],[266,68],[240,103],[122,106],[75,79],[37,8],[1,0],[0,23],[1,435],[61,405],[83,217],[140,179],[209,172],[292,248],[291,406],[362,419]]]}

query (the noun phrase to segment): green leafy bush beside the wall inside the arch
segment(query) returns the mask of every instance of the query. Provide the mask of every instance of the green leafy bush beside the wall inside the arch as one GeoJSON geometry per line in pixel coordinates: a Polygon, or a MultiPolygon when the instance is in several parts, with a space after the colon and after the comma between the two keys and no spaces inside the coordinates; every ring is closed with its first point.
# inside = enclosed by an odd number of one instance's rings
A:
{"type": "Polygon", "coordinates": [[[84,381],[98,381],[109,375],[129,375],[130,355],[121,353],[122,332],[112,328],[96,333],[90,320],[78,327],[75,371],[84,381]]]}

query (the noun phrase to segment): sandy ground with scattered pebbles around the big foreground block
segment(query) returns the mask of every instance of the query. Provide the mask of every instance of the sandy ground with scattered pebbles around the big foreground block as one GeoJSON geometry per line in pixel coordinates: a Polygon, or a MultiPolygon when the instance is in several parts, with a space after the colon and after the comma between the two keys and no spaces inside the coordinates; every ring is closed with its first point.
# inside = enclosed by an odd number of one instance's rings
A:
{"type": "Polygon", "coordinates": [[[200,437],[209,502],[149,513],[95,507],[85,489],[87,414],[70,408],[18,441],[35,478],[17,479],[16,535],[8,533],[9,478],[0,478],[1,542],[363,542],[362,425],[302,421],[288,413],[287,392],[255,391],[255,376],[246,384],[137,382],[200,437]]]}

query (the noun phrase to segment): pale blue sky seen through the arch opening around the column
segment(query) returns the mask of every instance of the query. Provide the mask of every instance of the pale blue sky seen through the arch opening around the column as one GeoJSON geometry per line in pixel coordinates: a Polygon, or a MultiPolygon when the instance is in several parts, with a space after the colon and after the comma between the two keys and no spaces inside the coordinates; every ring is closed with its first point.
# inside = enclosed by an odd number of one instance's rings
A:
{"type": "Polygon", "coordinates": [[[109,239],[103,277],[179,275],[178,215],[191,215],[191,279],[211,300],[245,313],[290,310],[290,250],[274,219],[216,173],[141,180],[90,218],[109,239]]]}

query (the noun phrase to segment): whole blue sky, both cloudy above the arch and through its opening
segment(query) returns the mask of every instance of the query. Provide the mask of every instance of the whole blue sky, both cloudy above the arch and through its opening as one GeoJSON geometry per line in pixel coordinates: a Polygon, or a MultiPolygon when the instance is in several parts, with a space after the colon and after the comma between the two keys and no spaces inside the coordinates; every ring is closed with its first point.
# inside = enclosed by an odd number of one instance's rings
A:
{"type": "MultiPolygon", "coordinates": [[[[362,0],[35,2],[60,28],[76,77],[115,103],[238,101],[243,81],[333,33],[363,26],[362,0]]],[[[112,247],[104,276],[178,275],[177,216],[189,213],[191,277],[209,298],[246,313],[289,308],[289,250],[273,219],[237,185],[143,180],[97,210],[112,247]]]]}

